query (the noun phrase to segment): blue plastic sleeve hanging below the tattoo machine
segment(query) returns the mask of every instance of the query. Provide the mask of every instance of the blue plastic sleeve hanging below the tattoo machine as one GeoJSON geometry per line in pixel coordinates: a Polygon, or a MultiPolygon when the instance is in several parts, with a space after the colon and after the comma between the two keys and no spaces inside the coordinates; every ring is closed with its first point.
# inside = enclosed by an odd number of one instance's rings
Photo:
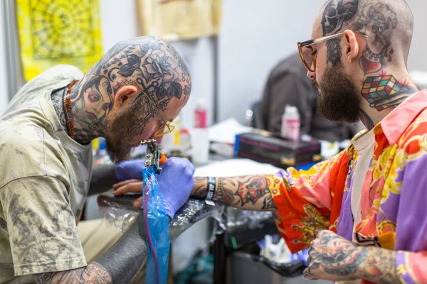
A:
{"type": "Polygon", "coordinates": [[[166,284],[169,262],[169,220],[156,179],[156,168],[142,171],[144,190],[144,223],[147,236],[148,261],[145,283],[166,284]]]}

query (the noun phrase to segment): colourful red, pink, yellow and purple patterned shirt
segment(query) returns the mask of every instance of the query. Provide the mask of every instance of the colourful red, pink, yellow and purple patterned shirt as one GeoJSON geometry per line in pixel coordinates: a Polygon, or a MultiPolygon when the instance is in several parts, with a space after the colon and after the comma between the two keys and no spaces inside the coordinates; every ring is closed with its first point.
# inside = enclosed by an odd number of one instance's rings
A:
{"type": "Polygon", "coordinates": [[[406,99],[372,131],[374,152],[359,197],[362,221],[354,224],[352,214],[359,159],[352,143],[310,170],[268,176],[276,224],[292,252],[307,248],[315,231],[330,229],[359,244],[398,251],[401,283],[427,283],[427,90],[406,99]]]}

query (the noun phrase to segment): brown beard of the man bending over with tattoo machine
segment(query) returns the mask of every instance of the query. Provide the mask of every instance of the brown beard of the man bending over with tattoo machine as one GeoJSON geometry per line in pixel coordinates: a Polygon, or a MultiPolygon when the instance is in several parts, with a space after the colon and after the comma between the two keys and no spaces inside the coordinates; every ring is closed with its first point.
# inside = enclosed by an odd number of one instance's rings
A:
{"type": "Polygon", "coordinates": [[[130,157],[132,146],[124,141],[132,138],[132,126],[137,124],[138,117],[132,109],[117,116],[111,124],[107,124],[107,134],[105,135],[105,146],[107,153],[113,163],[120,163],[130,157]]]}

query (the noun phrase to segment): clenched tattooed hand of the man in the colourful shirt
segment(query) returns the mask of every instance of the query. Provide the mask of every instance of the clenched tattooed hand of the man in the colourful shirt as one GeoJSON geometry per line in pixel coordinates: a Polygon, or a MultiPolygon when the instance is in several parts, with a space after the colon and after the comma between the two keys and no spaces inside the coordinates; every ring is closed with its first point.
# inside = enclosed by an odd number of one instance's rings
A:
{"type": "Polygon", "coordinates": [[[331,281],[359,279],[359,265],[364,260],[365,249],[332,231],[320,231],[310,244],[304,277],[331,281]]]}

